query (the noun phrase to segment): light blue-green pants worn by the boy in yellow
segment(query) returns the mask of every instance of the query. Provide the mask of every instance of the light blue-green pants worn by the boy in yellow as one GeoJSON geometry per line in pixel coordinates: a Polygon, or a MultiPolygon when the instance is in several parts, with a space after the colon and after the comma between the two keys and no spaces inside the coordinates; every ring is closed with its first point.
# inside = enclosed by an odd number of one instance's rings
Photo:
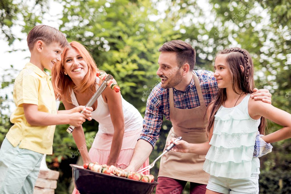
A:
{"type": "Polygon", "coordinates": [[[33,194],[43,154],[13,147],[5,138],[0,149],[0,194],[33,194]]]}

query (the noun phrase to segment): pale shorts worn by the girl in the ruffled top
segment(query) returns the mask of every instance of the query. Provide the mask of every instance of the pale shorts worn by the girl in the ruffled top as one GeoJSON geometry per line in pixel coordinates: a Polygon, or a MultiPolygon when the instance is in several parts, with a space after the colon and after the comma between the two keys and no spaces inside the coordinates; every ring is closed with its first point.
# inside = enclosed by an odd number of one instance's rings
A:
{"type": "Polygon", "coordinates": [[[250,178],[230,179],[210,175],[206,188],[223,194],[258,194],[260,168],[250,178]]]}

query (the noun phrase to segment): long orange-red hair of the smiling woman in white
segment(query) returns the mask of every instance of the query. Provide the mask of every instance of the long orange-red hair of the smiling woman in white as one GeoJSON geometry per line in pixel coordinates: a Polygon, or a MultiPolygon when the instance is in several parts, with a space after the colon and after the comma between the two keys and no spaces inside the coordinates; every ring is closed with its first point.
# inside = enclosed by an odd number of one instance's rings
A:
{"type": "Polygon", "coordinates": [[[87,51],[87,49],[79,42],[70,42],[69,47],[66,47],[61,55],[61,61],[55,64],[52,68],[52,85],[55,91],[56,99],[67,101],[68,103],[72,104],[72,90],[79,90],[80,92],[84,92],[89,89],[90,92],[95,93],[95,77],[97,71],[97,65],[95,64],[92,55],[87,51]],[[79,51],[88,65],[88,73],[86,73],[79,87],[74,84],[68,75],[64,74],[65,56],[68,50],[72,48],[79,51]]]}

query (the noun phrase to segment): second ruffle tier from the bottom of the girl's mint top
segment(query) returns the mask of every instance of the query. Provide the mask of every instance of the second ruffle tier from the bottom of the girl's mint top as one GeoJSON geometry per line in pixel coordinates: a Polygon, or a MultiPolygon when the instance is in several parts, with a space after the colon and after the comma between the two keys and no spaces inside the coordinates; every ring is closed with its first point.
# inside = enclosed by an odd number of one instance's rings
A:
{"type": "Polygon", "coordinates": [[[241,163],[252,161],[254,146],[241,146],[238,148],[223,148],[210,146],[206,159],[217,163],[241,163]]]}

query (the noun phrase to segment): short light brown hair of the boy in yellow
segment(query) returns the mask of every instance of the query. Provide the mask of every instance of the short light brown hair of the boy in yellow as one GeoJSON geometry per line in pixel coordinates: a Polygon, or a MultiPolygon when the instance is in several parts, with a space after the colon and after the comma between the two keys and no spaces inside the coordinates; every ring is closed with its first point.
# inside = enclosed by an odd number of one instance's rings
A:
{"type": "Polygon", "coordinates": [[[27,35],[27,45],[29,51],[32,51],[34,43],[38,40],[42,40],[46,44],[58,42],[63,48],[69,45],[65,35],[62,32],[47,25],[34,26],[30,30],[27,35]]]}

